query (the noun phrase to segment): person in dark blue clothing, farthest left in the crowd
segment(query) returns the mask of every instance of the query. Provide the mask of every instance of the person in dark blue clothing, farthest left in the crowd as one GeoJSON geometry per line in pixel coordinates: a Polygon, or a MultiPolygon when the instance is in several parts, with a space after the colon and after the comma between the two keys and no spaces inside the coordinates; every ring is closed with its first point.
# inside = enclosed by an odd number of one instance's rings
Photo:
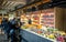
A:
{"type": "Polygon", "coordinates": [[[7,39],[9,40],[10,28],[9,28],[9,21],[7,18],[2,20],[2,28],[3,28],[4,33],[7,34],[7,39]]]}

